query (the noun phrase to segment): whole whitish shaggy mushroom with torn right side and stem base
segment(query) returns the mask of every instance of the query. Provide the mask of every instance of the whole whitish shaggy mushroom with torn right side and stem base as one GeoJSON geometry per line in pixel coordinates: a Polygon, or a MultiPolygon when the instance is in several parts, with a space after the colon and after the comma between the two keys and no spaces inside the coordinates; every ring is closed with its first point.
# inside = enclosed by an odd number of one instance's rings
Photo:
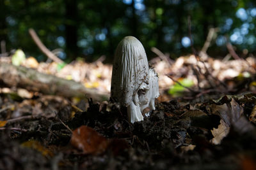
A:
{"type": "Polygon", "coordinates": [[[154,109],[152,103],[158,95],[156,77],[154,69],[150,72],[148,70],[147,55],[140,41],[133,36],[122,39],[116,47],[113,62],[111,101],[127,107],[128,118],[132,124],[143,120],[141,111],[145,108],[150,106],[154,109]],[[153,93],[156,95],[152,95],[153,93]]]}

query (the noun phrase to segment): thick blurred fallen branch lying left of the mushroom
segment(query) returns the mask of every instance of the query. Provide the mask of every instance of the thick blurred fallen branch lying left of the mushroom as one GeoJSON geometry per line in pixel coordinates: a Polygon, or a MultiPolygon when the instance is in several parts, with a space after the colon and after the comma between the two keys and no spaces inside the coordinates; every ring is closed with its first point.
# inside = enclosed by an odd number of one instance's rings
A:
{"type": "Polygon", "coordinates": [[[73,80],[58,78],[51,74],[39,73],[35,69],[12,64],[0,64],[0,81],[9,87],[22,87],[33,92],[64,97],[92,97],[95,100],[108,100],[108,94],[100,94],[96,89],[85,88],[73,80]]]}

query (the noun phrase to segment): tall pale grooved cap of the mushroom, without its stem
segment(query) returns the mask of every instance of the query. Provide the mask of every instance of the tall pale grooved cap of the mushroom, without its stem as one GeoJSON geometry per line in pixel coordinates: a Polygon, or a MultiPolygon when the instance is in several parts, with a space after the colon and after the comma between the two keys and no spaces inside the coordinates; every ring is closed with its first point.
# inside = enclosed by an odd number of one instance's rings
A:
{"type": "Polygon", "coordinates": [[[111,79],[111,97],[120,104],[138,105],[138,90],[148,89],[148,60],[140,41],[126,36],[115,52],[111,79]]]}

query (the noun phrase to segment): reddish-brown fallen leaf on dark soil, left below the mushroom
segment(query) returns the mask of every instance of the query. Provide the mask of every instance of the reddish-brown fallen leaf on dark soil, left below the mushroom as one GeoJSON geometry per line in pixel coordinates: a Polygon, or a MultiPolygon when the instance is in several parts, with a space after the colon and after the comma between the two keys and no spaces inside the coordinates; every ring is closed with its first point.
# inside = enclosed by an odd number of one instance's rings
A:
{"type": "Polygon", "coordinates": [[[86,154],[99,154],[106,150],[109,140],[97,131],[82,125],[72,132],[71,145],[83,150],[86,154]]]}

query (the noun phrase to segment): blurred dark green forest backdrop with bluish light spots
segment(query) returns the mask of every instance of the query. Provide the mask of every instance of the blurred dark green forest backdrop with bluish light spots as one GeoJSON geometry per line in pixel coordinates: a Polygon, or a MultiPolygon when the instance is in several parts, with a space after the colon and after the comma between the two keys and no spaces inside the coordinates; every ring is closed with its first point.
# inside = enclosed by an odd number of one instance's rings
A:
{"type": "Polygon", "coordinates": [[[207,53],[225,57],[227,42],[241,57],[255,55],[255,0],[1,0],[0,40],[6,50],[21,48],[26,55],[45,60],[28,29],[33,28],[58,57],[87,61],[106,55],[113,60],[124,36],[140,39],[148,57],[155,46],[172,59],[192,53],[205,43],[211,27],[218,28],[207,53]],[[189,34],[188,18],[191,18],[189,34]]]}

